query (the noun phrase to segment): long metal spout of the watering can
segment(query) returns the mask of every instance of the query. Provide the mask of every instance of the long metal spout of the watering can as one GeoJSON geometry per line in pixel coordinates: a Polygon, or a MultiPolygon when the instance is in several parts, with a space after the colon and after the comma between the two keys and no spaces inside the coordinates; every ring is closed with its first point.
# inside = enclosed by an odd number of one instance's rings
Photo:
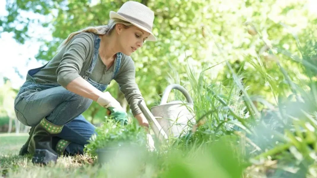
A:
{"type": "Polygon", "coordinates": [[[146,120],[149,122],[149,125],[151,126],[155,136],[158,137],[161,142],[167,140],[168,137],[165,131],[162,129],[159,122],[154,118],[151,111],[146,107],[144,100],[140,100],[138,102],[138,106],[142,111],[143,115],[145,116],[146,120]]]}

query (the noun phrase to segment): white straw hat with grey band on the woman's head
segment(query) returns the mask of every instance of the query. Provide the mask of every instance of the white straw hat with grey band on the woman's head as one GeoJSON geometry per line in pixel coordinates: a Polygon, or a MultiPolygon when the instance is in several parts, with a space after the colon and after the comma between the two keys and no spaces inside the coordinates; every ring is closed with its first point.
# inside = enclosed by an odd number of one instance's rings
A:
{"type": "Polygon", "coordinates": [[[120,7],[118,12],[110,11],[110,19],[112,18],[118,18],[132,23],[150,33],[146,41],[156,41],[156,37],[152,33],[154,12],[144,4],[128,1],[120,7]]]}

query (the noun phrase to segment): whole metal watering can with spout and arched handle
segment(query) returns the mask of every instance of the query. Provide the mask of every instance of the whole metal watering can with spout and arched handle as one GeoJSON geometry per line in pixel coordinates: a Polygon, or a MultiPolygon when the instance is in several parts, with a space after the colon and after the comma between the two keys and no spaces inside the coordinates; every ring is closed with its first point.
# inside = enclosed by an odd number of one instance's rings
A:
{"type": "Polygon", "coordinates": [[[139,108],[149,122],[154,134],[160,141],[168,137],[179,137],[186,134],[195,124],[194,104],[191,96],[183,86],[171,84],[166,87],[159,105],[151,108],[151,112],[146,107],[145,102],[140,100],[139,108]],[[182,92],[187,103],[182,101],[172,101],[167,103],[168,96],[172,89],[182,92]]]}

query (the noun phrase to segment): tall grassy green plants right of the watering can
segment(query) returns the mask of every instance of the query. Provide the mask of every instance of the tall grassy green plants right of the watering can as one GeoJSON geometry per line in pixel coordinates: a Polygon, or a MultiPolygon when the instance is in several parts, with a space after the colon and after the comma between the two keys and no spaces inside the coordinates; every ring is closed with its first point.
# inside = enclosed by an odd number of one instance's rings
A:
{"type": "MultiPolygon", "coordinates": [[[[178,146],[196,148],[228,135],[237,135],[240,140],[232,144],[240,146],[243,160],[248,160],[246,165],[262,167],[265,176],[316,177],[317,43],[312,40],[314,37],[307,36],[309,40],[303,44],[295,36],[301,56],[266,46],[267,54],[263,56],[260,52],[258,63],[252,63],[266,80],[274,96],[271,101],[276,104],[271,104],[267,97],[249,96],[248,85],[242,80],[244,64],[233,70],[232,64],[227,62],[231,77],[222,82],[188,70],[184,85],[191,91],[198,127],[176,140],[178,146]],[[305,77],[294,78],[290,74],[288,59],[298,63],[305,77]],[[283,77],[281,83],[276,83],[268,74],[267,63],[276,66],[283,77]],[[258,111],[259,108],[262,111],[258,111]]],[[[247,175],[255,176],[246,170],[247,175]]]]}

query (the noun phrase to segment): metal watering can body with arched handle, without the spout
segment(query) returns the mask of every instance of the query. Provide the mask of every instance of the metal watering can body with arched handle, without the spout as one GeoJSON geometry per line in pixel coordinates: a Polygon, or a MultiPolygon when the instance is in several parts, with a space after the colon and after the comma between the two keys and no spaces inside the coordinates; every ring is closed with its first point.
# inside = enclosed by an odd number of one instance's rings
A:
{"type": "Polygon", "coordinates": [[[179,137],[186,134],[191,129],[191,125],[196,122],[193,100],[186,89],[178,84],[171,84],[166,87],[160,105],[152,107],[151,112],[168,137],[179,137]],[[182,101],[167,103],[172,89],[182,92],[187,103],[182,101]]]}

